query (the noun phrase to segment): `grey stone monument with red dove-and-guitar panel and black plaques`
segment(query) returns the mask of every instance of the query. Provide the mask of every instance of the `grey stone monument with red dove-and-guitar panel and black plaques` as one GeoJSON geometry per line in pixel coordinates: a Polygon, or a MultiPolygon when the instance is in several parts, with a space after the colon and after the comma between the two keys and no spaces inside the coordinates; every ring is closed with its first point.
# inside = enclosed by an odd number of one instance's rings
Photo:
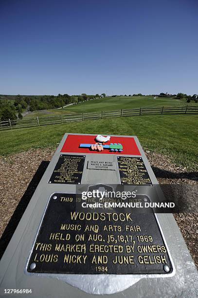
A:
{"type": "Polygon", "coordinates": [[[196,297],[179,227],[152,202],[136,136],[66,133],[0,261],[0,297],[196,297]]]}

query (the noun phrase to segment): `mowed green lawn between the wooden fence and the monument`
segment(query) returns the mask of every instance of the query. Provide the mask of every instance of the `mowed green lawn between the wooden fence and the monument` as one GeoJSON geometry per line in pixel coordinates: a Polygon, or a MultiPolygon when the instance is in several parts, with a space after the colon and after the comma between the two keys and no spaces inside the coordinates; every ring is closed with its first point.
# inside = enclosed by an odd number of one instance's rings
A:
{"type": "Polygon", "coordinates": [[[137,135],[144,149],[167,154],[189,170],[198,169],[198,115],[189,114],[118,117],[0,131],[0,154],[57,147],[65,132],[137,135]]]}

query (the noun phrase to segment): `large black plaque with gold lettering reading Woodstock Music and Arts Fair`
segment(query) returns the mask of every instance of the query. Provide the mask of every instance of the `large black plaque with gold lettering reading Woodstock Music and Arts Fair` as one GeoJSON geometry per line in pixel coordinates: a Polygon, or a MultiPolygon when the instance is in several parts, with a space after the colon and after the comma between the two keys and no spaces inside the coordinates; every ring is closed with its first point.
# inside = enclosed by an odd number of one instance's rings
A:
{"type": "Polygon", "coordinates": [[[172,271],[153,213],[135,214],[131,208],[114,209],[112,213],[104,209],[97,213],[82,208],[82,202],[85,201],[76,198],[76,194],[57,193],[50,198],[28,261],[28,272],[167,274],[172,271]]]}

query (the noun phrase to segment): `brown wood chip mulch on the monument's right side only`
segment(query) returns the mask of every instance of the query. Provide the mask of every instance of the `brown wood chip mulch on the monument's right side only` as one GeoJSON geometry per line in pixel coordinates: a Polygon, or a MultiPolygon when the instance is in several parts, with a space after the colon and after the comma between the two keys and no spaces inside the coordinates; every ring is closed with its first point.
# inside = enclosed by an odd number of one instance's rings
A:
{"type": "MultiPolygon", "coordinates": [[[[191,199],[190,197],[192,196],[192,193],[195,192],[195,190],[198,190],[198,172],[189,172],[187,168],[175,165],[171,162],[169,156],[151,153],[149,151],[145,151],[145,153],[158,182],[166,185],[179,185],[176,188],[179,195],[182,191],[189,188],[190,196],[186,199],[191,199]]],[[[198,192],[195,193],[195,200],[198,202],[198,192]]],[[[197,210],[198,208],[196,208],[196,211],[197,210]]],[[[198,213],[175,213],[173,215],[198,268],[198,213]]]]}

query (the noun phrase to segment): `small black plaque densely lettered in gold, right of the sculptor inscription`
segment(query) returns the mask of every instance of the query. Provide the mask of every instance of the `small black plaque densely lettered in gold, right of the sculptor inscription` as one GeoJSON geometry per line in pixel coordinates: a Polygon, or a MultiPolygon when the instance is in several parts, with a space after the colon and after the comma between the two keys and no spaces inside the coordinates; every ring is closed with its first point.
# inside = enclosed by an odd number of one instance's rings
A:
{"type": "Polygon", "coordinates": [[[118,156],[117,158],[122,185],[152,186],[141,157],[118,156]]]}

